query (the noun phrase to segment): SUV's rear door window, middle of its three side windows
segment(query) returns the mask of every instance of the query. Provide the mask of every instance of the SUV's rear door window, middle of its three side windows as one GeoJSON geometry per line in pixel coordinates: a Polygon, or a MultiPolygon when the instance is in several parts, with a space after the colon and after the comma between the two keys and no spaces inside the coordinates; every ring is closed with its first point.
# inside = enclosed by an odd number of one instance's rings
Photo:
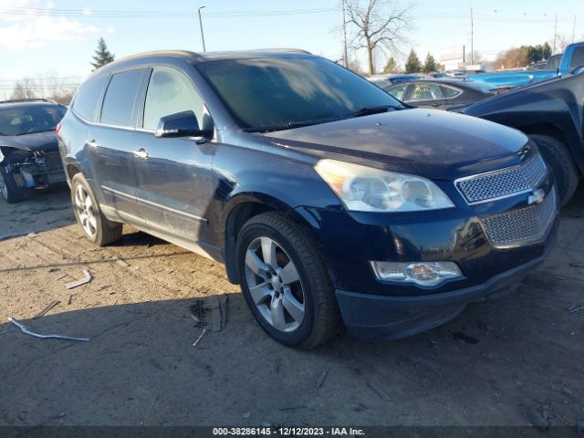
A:
{"type": "Polygon", "coordinates": [[[101,123],[132,127],[134,102],[140,89],[144,70],[116,73],[110,80],[101,107],[101,123]]]}

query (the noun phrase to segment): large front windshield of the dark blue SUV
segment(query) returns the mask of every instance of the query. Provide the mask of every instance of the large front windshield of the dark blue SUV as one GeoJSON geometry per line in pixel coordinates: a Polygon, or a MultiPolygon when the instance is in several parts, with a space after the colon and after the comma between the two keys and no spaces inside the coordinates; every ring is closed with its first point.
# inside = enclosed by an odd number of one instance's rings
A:
{"type": "Polygon", "coordinates": [[[210,61],[197,66],[246,130],[278,130],[402,108],[367,79],[319,57],[210,61]]]}

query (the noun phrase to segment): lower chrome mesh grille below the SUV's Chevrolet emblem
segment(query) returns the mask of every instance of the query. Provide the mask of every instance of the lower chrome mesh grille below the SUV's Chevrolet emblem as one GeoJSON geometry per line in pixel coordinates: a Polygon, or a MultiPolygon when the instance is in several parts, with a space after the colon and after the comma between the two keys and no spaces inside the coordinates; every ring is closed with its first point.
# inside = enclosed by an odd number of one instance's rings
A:
{"type": "Polygon", "coordinates": [[[491,244],[506,247],[541,240],[557,212],[556,192],[547,193],[542,203],[503,214],[480,218],[491,244]]]}

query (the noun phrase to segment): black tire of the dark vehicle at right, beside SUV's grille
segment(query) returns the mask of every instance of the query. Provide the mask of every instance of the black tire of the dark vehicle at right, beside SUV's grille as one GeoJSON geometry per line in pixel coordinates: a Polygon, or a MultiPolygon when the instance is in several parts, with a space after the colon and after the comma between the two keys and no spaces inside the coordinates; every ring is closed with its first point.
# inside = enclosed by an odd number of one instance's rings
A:
{"type": "Polygon", "coordinates": [[[533,140],[554,174],[558,187],[559,203],[563,207],[576,192],[579,171],[568,147],[547,135],[533,134],[533,140]]]}

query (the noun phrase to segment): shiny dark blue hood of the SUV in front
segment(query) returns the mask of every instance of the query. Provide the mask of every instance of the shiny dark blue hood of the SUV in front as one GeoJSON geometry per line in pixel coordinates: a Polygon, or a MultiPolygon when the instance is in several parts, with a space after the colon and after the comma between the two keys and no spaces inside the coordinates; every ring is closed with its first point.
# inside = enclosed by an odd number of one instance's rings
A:
{"type": "Polygon", "coordinates": [[[265,134],[279,146],[431,179],[454,180],[521,162],[527,137],[441,110],[397,110],[265,134]]]}

